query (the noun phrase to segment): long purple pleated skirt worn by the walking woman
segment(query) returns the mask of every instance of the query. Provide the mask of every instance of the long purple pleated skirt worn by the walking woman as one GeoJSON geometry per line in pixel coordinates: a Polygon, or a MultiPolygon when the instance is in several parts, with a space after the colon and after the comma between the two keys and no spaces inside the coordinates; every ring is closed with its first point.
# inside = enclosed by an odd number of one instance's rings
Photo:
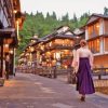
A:
{"type": "Polygon", "coordinates": [[[77,91],[80,94],[93,94],[95,93],[90,60],[87,57],[80,57],[79,69],[77,73],[77,91]]]}

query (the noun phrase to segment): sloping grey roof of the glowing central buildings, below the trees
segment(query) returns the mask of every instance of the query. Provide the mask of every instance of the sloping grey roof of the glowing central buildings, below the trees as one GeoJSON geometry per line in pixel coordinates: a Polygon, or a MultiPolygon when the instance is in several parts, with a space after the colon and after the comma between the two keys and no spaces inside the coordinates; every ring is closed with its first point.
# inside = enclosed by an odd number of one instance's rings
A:
{"type": "Polygon", "coordinates": [[[29,43],[25,49],[27,49],[29,45],[33,46],[37,45],[39,43],[46,43],[53,39],[75,39],[75,33],[70,30],[70,28],[68,26],[60,26],[58,28],[56,28],[56,30],[54,30],[52,33],[43,37],[43,38],[30,38],[32,40],[37,40],[33,43],[29,43]]]}

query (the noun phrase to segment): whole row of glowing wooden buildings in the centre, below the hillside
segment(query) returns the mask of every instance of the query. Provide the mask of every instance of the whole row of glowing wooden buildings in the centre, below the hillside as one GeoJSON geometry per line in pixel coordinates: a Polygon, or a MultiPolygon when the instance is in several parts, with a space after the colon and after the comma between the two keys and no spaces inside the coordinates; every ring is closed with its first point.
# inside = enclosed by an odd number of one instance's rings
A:
{"type": "Polygon", "coordinates": [[[56,28],[54,32],[41,39],[32,39],[19,57],[21,67],[32,67],[32,69],[33,67],[56,66],[62,69],[70,67],[72,50],[78,38],[68,26],[56,28]]]}

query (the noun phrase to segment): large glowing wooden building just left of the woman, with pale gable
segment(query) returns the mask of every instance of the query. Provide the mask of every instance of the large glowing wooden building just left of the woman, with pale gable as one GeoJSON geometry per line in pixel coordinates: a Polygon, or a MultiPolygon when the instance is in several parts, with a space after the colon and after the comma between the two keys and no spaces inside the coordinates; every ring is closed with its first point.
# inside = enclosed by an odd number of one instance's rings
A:
{"type": "Polygon", "coordinates": [[[37,66],[67,68],[72,60],[76,39],[68,26],[56,28],[53,33],[40,39],[37,45],[33,44],[37,51],[37,55],[33,55],[33,59],[37,56],[37,66]]]}

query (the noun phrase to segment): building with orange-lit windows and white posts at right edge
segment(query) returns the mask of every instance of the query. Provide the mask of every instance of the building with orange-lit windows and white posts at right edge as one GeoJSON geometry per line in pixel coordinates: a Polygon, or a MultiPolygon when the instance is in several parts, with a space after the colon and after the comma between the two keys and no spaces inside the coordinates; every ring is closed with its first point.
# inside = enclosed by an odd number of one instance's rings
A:
{"type": "Polygon", "coordinates": [[[90,16],[85,25],[85,39],[94,53],[94,67],[108,67],[108,15],[90,16]]]}

